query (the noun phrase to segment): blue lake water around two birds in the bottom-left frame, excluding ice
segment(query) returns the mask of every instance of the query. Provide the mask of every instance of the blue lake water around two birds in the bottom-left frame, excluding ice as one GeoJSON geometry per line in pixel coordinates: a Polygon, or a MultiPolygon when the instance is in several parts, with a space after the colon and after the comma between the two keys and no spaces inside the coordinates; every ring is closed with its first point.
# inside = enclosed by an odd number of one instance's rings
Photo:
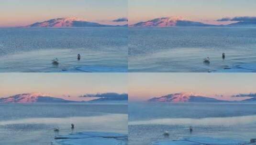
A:
{"type": "Polygon", "coordinates": [[[72,132],[127,134],[127,113],[127,104],[0,104],[0,144],[51,145],[72,132]]]}

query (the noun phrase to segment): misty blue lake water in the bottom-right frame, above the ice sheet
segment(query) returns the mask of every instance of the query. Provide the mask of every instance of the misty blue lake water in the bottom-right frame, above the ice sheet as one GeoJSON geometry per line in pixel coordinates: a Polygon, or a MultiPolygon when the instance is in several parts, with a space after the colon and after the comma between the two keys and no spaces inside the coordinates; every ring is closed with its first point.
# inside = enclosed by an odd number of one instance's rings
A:
{"type": "Polygon", "coordinates": [[[195,136],[249,142],[256,137],[256,104],[129,103],[129,145],[195,136]]]}

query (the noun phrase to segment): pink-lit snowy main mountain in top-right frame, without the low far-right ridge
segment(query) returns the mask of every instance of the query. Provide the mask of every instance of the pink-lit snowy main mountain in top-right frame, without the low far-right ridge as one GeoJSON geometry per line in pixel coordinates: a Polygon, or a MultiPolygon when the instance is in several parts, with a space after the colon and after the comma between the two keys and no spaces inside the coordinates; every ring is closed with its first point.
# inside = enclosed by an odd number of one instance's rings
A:
{"type": "Polygon", "coordinates": [[[204,24],[196,21],[189,21],[182,17],[163,17],[157,18],[149,21],[142,21],[136,24],[130,25],[131,27],[205,27],[205,26],[215,26],[204,24]]]}

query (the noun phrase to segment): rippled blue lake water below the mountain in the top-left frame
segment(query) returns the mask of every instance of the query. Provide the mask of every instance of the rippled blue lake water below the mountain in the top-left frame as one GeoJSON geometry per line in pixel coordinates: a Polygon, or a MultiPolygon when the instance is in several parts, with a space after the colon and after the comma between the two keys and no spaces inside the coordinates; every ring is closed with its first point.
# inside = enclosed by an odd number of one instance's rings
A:
{"type": "Polygon", "coordinates": [[[127,34],[127,28],[0,29],[0,72],[127,72],[127,34]]]}

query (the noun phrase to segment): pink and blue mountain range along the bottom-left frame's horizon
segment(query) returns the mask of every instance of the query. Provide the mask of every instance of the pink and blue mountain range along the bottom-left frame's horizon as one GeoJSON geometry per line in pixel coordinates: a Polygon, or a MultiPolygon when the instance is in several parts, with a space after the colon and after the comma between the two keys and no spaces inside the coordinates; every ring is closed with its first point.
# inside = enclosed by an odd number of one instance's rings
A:
{"type": "Polygon", "coordinates": [[[127,101],[127,98],[97,98],[90,101],[72,101],[72,100],[65,100],[62,98],[50,96],[43,93],[22,93],[16,94],[6,98],[0,98],[0,103],[107,103],[107,102],[115,102],[115,101],[127,101]]]}

